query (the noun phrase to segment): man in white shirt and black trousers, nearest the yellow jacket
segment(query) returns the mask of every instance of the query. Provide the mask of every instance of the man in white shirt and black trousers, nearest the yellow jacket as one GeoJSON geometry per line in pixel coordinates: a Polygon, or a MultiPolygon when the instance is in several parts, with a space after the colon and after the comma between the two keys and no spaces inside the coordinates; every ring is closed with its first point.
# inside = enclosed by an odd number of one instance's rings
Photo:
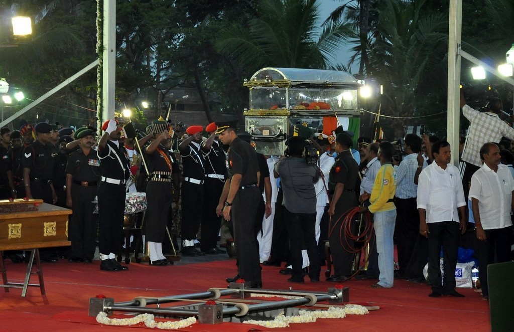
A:
{"type": "Polygon", "coordinates": [[[451,151],[447,141],[435,142],[432,145],[432,154],[434,162],[419,175],[417,188],[419,233],[428,238],[428,276],[432,285],[429,297],[464,297],[455,291],[455,267],[460,236],[458,231],[460,229],[461,234],[466,231],[466,200],[460,172],[450,164],[451,151]],[[443,282],[439,267],[441,245],[444,260],[443,282]]]}

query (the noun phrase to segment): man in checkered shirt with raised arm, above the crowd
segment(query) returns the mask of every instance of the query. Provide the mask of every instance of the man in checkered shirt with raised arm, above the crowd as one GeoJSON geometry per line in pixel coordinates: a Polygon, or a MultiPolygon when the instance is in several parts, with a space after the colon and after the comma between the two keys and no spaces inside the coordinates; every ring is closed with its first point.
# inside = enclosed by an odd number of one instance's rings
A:
{"type": "Polygon", "coordinates": [[[462,184],[466,200],[469,193],[471,176],[482,167],[480,148],[487,142],[499,143],[502,137],[514,139],[514,129],[498,117],[502,112],[502,102],[493,98],[488,112],[479,112],[466,105],[466,99],[461,89],[461,108],[464,116],[471,122],[468,137],[461,159],[466,162],[462,184]]]}

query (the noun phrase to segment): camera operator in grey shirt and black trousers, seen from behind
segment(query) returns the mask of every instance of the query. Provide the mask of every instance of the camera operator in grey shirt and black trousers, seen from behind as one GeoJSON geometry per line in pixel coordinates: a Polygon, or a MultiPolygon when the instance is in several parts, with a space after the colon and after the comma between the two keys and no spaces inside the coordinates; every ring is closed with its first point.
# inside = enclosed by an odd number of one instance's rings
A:
{"type": "Polygon", "coordinates": [[[302,248],[309,257],[309,278],[319,282],[320,262],[316,244],[316,191],[319,169],[309,165],[302,154],[307,146],[305,139],[293,136],[286,141],[286,159],[274,168],[274,176],[280,176],[284,191],[285,223],[289,233],[292,275],[289,282],[303,283],[302,248]]]}

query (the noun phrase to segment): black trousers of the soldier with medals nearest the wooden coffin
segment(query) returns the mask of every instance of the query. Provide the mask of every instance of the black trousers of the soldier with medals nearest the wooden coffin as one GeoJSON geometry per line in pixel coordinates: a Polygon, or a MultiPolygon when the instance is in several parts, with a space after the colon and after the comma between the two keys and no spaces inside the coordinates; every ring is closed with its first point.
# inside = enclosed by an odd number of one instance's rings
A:
{"type": "MultiPolygon", "coordinates": [[[[68,239],[71,241],[69,257],[93,260],[96,250],[97,218],[93,214],[93,200],[97,187],[72,185],[73,215],[69,222],[68,239]]],[[[121,230],[120,230],[121,233],[121,230]]]]}

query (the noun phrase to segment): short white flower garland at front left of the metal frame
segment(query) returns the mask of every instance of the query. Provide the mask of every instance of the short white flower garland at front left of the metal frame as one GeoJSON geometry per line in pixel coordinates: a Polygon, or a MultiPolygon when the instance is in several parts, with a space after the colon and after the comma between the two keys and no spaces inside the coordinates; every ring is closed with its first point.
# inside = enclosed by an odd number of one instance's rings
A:
{"type": "Polygon", "coordinates": [[[141,315],[137,315],[132,318],[118,319],[118,318],[108,318],[107,313],[102,311],[102,312],[99,312],[97,315],[97,322],[99,322],[100,324],[116,325],[116,326],[136,325],[139,323],[144,323],[144,325],[146,327],[171,330],[171,329],[184,328],[184,327],[193,325],[194,323],[196,323],[196,318],[189,317],[189,318],[177,321],[177,322],[172,322],[172,321],[156,322],[154,320],[154,315],[152,315],[151,313],[142,313],[141,315]]]}

